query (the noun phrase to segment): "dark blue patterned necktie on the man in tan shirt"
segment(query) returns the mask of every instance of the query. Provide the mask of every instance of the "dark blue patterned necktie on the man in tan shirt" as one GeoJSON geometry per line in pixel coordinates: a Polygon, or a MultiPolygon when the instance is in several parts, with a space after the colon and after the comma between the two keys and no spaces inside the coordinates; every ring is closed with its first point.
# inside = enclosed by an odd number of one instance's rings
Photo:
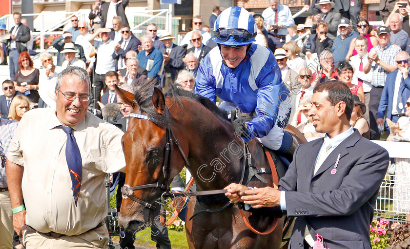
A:
{"type": "Polygon", "coordinates": [[[60,126],[67,134],[67,144],[65,145],[65,159],[67,160],[68,170],[72,182],[71,189],[73,190],[74,201],[77,201],[81,188],[82,178],[82,159],[80,149],[78,148],[76,138],[73,135],[73,128],[68,126],[60,126]]]}

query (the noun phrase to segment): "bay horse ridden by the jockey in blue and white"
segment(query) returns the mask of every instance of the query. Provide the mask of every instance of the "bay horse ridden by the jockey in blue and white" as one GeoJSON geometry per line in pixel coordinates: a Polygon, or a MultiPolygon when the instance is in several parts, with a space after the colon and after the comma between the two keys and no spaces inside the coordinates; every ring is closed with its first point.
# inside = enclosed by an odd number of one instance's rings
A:
{"type": "MultiPolygon", "coordinates": [[[[155,201],[168,189],[169,179],[185,165],[198,191],[222,190],[232,182],[241,181],[245,160],[244,142],[234,134],[231,123],[213,102],[176,89],[164,96],[161,90],[154,88],[154,82],[137,84],[133,87],[134,94],[116,87],[118,95],[124,103],[133,106],[135,114],[135,118],[129,118],[122,139],[126,161],[124,188],[140,186],[125,193],[123,188],[119,224],[126,230],[141,230],[147,223],[154,222],[160,209],[155,201]],[[170,152],[169,143],[174,145],[170,152]],[[166,161],[170,164],[168,169],[164,166],[166,161]]],[[[269,168],[257,139],[248,142],[248,148],[253,166],[269,168]]],[[[271,186],[270,174],[260,176],[267,184],[254,177],[247,186],[271,186]]],[[[268,230],[274,219],[278,219],[268,212],[245,211],[245,214],[252,227],[259,231],[268,230]]],[[[281,218],[273,232],[258,235],[246,227],[236,205],[228,205],[224,194],[216,194],[190,198],[185,228],[191,249],[278,249],[283,223],[281,218]],[[206,211],[219,209],[222,210],[206,211]],[[189,219],[195,213],[197,215],[189,219]]]]}

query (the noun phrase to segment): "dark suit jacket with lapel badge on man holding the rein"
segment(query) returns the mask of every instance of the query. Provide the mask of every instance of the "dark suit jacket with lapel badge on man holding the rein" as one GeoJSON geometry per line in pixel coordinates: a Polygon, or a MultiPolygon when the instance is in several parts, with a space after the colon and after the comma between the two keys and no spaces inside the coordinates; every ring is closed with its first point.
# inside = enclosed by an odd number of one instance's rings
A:
{"type": "Polygon", "coordinates": [[[279,181],[288,216],[295,216],[289,249],[301,249],[305,228],[325,248],[371,249],[369,225],[389,153],[355,130],[326,158],[313,176],[324,138],[300,145],[279,181]],[[366,149],[364,149],[366,148],[366,149]],[[340,155],[336,173],[331,174],[340,155]]]}

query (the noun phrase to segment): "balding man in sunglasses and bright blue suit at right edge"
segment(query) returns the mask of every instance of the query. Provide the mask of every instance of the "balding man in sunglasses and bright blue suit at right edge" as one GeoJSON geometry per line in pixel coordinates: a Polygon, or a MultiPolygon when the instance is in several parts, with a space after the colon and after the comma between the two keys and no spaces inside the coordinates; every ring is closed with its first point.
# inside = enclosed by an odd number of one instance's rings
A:
{"type": "MultiPolygon", "coordinates": [[[[387,75],[377,113],[378,125],[384,124],[388,127],[384,122],[385,114],[393,123],[397,123],[397,120],[405,115],[406,101],[410,97],[409,59],[406,51],[400,51],[396,55],[398,69],[387,75]]],[[[389,134],[390,128],[387,128],[387,131],[389,134]]]]}

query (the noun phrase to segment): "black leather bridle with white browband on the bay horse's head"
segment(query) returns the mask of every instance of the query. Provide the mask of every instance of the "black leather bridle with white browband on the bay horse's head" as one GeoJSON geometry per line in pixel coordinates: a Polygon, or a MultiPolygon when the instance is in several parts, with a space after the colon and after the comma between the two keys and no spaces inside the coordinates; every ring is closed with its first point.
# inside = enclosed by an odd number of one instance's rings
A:
{"type": "MultiPolygon", "coordinates": [[[[166,123],[170,124],[171,119],[169,118],[169,111],[168,108],[165,106],[164,108],[165,111],[165,119],[166,119],[166,123]]],[[[152,122],[152,120],[147,116],[147,115],[141,115],[141,114],[134,114],[131,113],[130,117],[134,117],[134,118],[139,118],[139,119],[146,119],[152,122]]],[[[184,151],[182,150],[178,140],[175,138],[174,133],[172,132],[172,128],[171,125],[166,127],[166,144],[165,144],[165,154],[164,154],[164,163],[163,163],[163,167],[162,167],[162,173],[164,173],[164,179],[166,181],[165,184],[161,184],[160,183],[160,179],[158,179],[157,183],[152,183],[152,184],[144,184],[144,185],[140,185],[140,186],[135,186],[135,187],[129,187],[124,185],[123,188],[121,188],[121,192],[123,194],[123,198],[130,198],[131,200],[145,206],[146,208],[155,211],[157,208],[146,202],[143,201],[141,199],[135,198],[133,195],[133,191],[134,190],[141,190],[141,189],[147,189],[147,188],[160,188],[162,190],[164,190],[165,192],[162,194],[162,196],[165,195],[172,195],[170,188],[169,188],[169,184],[170,184],[170,177],[169,177],[169,169],[170,169],[170,164],[171,164],[171,155],[172,155],[172,148],[173,148],[173,144],[175,143],[175,145],[177,146],[178,150],[181,152],[182,156],[184,157],[185,160],[185,164],[186,166],[189,168],[189,162],[188,159],[186,158],[184,151]],[[174,140],[172,140],[174,139],[174,140]]]]}

